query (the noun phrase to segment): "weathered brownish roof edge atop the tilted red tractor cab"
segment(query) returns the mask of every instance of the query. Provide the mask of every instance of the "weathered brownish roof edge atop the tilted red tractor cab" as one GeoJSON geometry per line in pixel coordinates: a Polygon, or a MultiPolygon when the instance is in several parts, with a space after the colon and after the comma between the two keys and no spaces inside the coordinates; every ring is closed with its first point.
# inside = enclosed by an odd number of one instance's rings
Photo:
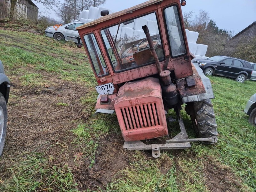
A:
{"type": "Polygon", "coordinates": [[[83,29],[83,28],[87,28],[87,27],[90,27],[92,25],[96,25],[98,23],[101,23],[103,21],[106,21],[106,20],[111,20],[113,18],[116,18],[116,17],[119,17],[119,16],[122,16],[124,14],[127,14],[127,13],[130,13],[130,12],[133,12],[133,11],[136,11],[138,9],[141,9],[143,7],[146,7],[146,6],[149,6],[149,5],[152,5],[152,4],[156,4],[158,2],[161,2],[161,1],[164,1],[164,0],[149,0],[145,3],[142,3],[142,4],[139,4],[139,5],[136,5],[134,7],[131,7],[131,8],[128,8],[128,9],[125,9],[123,11],[119,11],[119,12],[115,12],[115,13],[112,13],[110,15],[107,15],[107,16],[103,16],[103,17],[100,17],[96,20],[93,20],[89,23],[86,23],[84,25],[81,25],[79,27],[77,27],[76,29],[83,29]]]}

